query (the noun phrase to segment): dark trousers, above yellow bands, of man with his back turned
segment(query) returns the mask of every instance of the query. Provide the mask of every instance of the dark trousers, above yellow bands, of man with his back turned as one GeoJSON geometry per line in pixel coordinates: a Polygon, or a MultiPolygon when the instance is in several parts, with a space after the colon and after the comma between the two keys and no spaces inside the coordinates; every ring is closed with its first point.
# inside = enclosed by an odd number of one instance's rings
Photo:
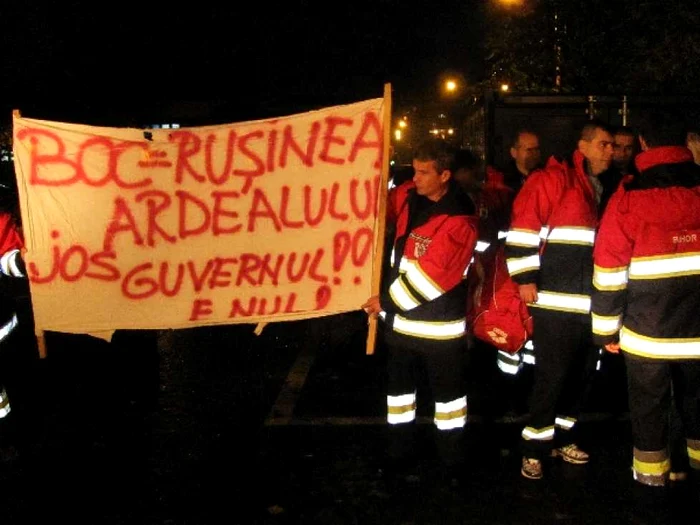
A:
{"type": "MultiPolygon", "coordinates": [[[[700,441],[700,359],[671,361],[625,354],[625,363],[634,447],[667,450],[674,412],[686,439],[700,441]]],[[[693,466],[700,468],[697,463],[693,466]]]]}

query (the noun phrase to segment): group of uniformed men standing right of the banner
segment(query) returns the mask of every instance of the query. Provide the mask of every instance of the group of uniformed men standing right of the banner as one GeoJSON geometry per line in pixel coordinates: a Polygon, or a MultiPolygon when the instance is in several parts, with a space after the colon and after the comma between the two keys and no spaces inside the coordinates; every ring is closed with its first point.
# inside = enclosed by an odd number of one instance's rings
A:
{"type": "Polygon", "coordinates": [[[700,135],[652,112],[636,129],[588,121],[567,158],[542,164],[530,129],[514,133],[509,152],[509,165],[484,168],[470,151],[427,141],[413,179],[390,190],[390,270],[362,305],[383,320],[388,348],[389,468],[408,468],[415,453],[423,370],[445,471],[468,469],[464,356],[474,353],[493,358],[504,385],[530,371],[509,387],[529,396],[525,479],[546,474],[545,458],[586,464],[577,420],[604,360],[627,383],[641,501],[677,482],[700,494],[700,135]],[[470,333],[474,294],[499,264],[499,286],[530,316],[517,352],[470,333]]]}

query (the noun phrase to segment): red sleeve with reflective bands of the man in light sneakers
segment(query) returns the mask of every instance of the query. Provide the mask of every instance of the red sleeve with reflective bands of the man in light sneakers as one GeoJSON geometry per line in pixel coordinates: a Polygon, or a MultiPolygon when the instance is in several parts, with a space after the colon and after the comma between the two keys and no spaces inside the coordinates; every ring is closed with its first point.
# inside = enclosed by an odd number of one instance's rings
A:
{"type": "Polygon", "coordinates": [[[513,202],[506,236],[508,273],[518,284],[537,282],[540,232],[547,226],[563,176],[554,171],[532,173],[513,202]]]}

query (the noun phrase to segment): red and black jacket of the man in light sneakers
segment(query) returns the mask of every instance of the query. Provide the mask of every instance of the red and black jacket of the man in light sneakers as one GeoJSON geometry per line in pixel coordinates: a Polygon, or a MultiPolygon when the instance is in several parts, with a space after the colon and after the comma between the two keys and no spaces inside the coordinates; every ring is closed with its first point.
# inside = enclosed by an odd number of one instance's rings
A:
{"type": "Polygon", "coordinates": [[[518,284],[535,283],[529,306],[590,317],[597,202],[585,158],[551,158],[528,176],[513,203],[506,237],[508,272],[518,284]]]}

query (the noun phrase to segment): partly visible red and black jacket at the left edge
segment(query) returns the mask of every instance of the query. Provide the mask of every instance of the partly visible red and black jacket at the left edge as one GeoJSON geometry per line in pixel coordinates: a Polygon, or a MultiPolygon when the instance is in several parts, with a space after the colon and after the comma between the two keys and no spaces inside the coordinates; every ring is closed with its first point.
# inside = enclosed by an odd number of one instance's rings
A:
{"type": "Polygon", "coordinates": [[[22,246],[22,238],[12,216],[0,212],[0,341],[17,326],[15,302],[8,278],[26,275],[20,255],[22,246]]]}

